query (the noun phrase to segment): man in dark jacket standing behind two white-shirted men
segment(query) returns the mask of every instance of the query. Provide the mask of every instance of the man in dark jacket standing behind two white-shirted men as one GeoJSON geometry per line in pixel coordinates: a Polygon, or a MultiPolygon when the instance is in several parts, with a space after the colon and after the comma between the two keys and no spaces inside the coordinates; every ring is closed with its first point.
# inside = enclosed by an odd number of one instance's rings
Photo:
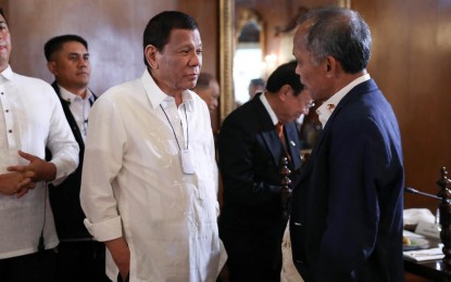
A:
{"type": "Polygon", "coordinates": [[[77,169],[61,184],[49,189],[60,239],[57,281],[109,281],[104,274],[104,245],[93,241],[85,228],[79,203],[88,115],[97,99],[88,89],[91,72],[88,43],[76,35],[58,36],[46,43],[45,54],[55,78],[52,87],[80,148],[77,169]]]}

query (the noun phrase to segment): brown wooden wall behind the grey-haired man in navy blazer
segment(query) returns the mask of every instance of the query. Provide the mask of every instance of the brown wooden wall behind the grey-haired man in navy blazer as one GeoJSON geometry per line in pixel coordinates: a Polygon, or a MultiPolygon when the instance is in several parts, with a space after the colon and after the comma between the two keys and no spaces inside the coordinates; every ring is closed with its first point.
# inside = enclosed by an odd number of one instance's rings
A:
{"type": "MultiPolygon", "coordinates": [[[[405,184],[436,194],[439,170],[451,170],[451,1],[352,0],[373,34],[369,73],[400,123],[405,184]]],[[[438,203],[405,195],[405,207],[438,203]]]]}

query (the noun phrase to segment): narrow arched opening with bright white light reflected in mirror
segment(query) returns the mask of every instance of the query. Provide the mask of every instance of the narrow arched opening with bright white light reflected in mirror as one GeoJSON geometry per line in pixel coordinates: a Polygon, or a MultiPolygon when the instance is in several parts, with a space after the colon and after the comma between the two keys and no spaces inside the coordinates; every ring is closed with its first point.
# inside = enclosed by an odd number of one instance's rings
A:
{"type": "Polygon", "coordinates": [[[251,9],[242,9],[237,16],[237,42],[234,55],[234,89],[237,104],[250,98],[248,90],[252,79],[261,78],[263,55],[263,22],[251,9]]]}

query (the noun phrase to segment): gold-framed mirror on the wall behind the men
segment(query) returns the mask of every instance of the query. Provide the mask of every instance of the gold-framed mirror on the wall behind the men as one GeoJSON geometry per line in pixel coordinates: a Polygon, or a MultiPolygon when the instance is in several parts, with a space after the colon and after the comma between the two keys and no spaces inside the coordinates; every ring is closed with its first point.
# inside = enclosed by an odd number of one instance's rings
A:
{"type": "MultiPolygon", "coordinates": [[[[239,90],[234,81],[238,51],[258,49],[260,43],[260,63],[249,64],[256,72],[250,76],[260,74],[262,78],[267,77],[277,65],[293,59],[292,35],[300,14],[311,8],[330,4],[350,8],[351,0],[220,0],[221,121],[236,108],[237,102],[246,99],[246,95],[242,98],[243,90],[239,90]],[[254,41],[240,42],[240,35],[246,34],[247,28],[253,33],[254,41]],[[255,30],[260,31],[258,36],[255,30]]],[[[246,82],[241,81],[246,88],[249,77],[243,78],[246,82]]]]}

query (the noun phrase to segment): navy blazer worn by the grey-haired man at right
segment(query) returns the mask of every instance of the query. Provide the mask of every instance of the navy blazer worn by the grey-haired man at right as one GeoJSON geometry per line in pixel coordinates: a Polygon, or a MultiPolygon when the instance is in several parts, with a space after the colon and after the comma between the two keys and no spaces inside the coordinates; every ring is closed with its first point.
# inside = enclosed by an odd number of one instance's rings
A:
{"type": "Polygon", "coordinates": [[[305,281],[403,281],[403,165],[393,111],[373,80],[337,105],[292,194],[305,281]]]}

